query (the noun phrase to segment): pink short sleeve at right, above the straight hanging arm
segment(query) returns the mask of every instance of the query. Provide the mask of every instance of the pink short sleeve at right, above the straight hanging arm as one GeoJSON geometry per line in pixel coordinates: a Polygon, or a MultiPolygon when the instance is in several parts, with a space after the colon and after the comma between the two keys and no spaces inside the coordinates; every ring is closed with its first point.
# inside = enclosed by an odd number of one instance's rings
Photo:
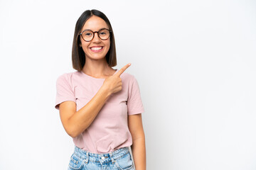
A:
{"type": "Polygon", "coordinates": [[[144,106],[142,103],[142,98],[139,90],[139,84],[134,76],[132,76],[132,80],[129,83],[127,111],[128,115],[135,115],[144,112],[144,106]]]}

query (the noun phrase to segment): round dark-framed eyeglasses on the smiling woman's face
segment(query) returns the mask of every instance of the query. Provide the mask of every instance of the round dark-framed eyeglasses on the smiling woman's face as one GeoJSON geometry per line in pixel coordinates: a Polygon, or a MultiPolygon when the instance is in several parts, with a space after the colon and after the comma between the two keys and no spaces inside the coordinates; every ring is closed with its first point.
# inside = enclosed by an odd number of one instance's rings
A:
{"type": "Polygon", "coordinates": [[[110,38],[111,30],[108,30],[107,28],[102,28],[95,32],[93,32],[92,30],[83,30],[82,33],[80,33],[79,35],[82,35],[83,40],[89,42],[94,38],[95,33],[97,33],[100,39],[107,40],[107,38],[110,38]]]}

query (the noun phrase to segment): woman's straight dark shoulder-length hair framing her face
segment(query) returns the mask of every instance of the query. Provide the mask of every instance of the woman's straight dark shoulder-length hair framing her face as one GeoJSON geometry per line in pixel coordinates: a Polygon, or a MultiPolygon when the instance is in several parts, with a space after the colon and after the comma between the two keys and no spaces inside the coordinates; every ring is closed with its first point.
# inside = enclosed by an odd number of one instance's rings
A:
{"type": "Polygon", "coordinates": [[[82,50],[82,47],[80,47],[80,32],[82,31],[82,27],[85,25],[85,22],[92,16],[98,16],[102,18],[106,23],[107,26],[110,28],[110,50],[107,52],[107,55],[105,56],[107,60],[107,64],[109,64],[110,67],[114,67],[117,65],[117,57],[116,57],[116,48],[114,43],[114,33],[112,30],[112,26],[110,24],[110,21],[107,19],[107,16],[105,16],[104,13],[101,11],[97,11],[95,9],[87,10],[82,13],[80,18],[78,18],[77,23],[75,24],[75,33],[74,33],[74,39],[73,39],[73,47],[72,47],[72,64],[73,68],[81,71],[82,67],[85,65],[85,52],[82,50]]]}

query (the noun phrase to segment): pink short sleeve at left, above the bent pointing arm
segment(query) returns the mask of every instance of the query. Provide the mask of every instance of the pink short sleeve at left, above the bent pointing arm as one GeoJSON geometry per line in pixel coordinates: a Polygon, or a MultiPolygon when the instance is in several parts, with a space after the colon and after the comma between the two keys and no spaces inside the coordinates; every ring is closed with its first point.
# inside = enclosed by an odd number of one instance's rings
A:
{"type": "Polygon", "coordinates": [[[55,108],[59,110],[59,104],[63,101],[74,101],[75,94],[68,83],[68,74],[63,74],[56,81],[55,108]]]}

